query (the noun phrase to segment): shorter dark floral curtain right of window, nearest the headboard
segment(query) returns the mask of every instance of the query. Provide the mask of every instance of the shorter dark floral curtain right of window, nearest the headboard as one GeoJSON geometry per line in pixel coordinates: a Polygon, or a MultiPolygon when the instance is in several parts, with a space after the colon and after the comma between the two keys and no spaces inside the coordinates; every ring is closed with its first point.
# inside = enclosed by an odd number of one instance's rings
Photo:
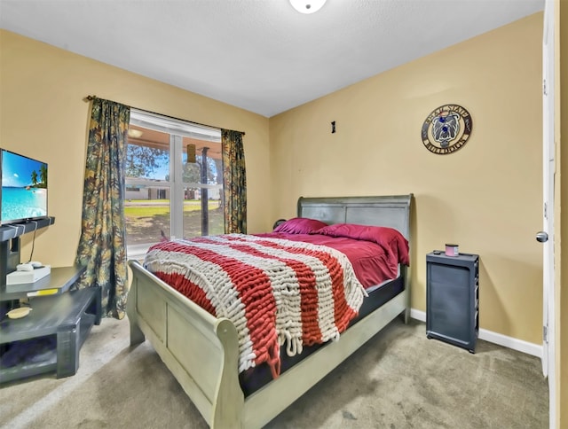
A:
{"type": "Polygon", "coordinates": [[[240,131],[221,129],[225,233],[247,233],[247,176],[240,131]]]}

